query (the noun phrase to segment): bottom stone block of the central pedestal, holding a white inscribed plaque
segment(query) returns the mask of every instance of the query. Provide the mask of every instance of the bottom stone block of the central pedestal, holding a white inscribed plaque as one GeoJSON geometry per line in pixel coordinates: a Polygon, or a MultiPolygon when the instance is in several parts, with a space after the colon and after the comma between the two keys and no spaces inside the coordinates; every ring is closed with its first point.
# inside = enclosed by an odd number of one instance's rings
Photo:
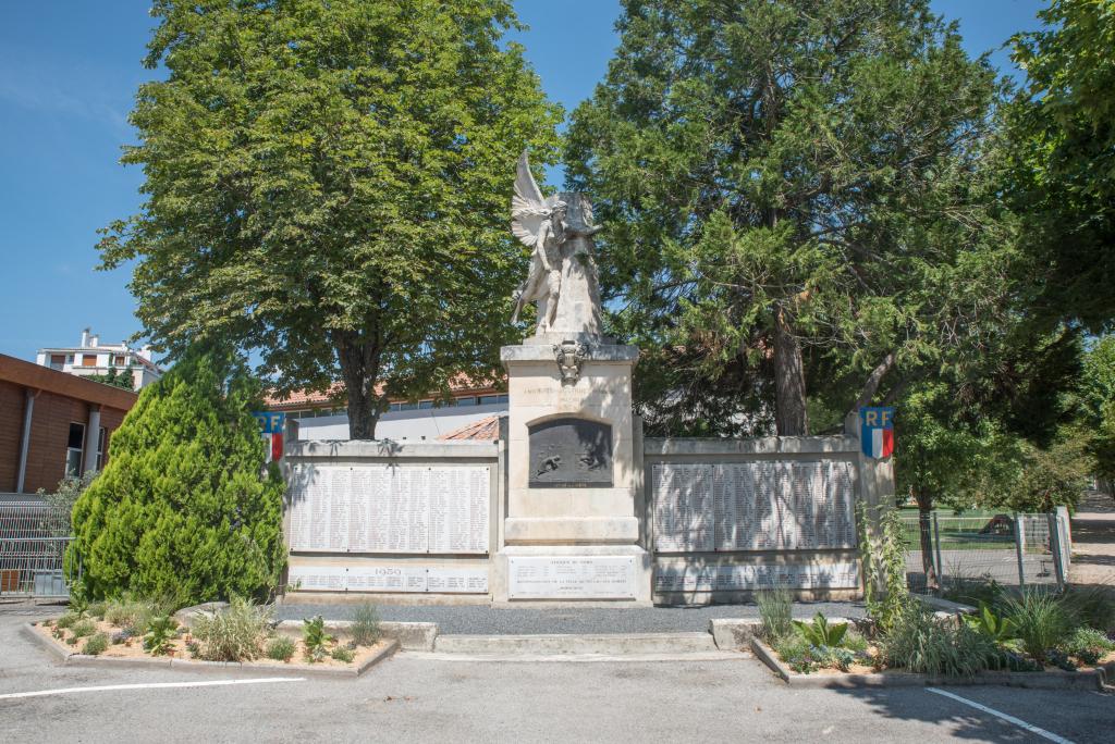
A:
{"type": "Polygon", "coordinates": [[[651,556],[634,545],[515,545],[495,556],[493,600],[650,606],[651,556]]]}

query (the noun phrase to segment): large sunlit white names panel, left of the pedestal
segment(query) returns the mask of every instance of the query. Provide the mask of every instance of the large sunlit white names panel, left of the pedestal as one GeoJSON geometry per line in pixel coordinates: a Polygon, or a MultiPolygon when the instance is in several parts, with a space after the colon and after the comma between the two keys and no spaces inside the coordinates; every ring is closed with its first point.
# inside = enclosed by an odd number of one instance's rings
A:
{"type": "Polygon", "coordinates": [[[293,467],[291,550],[488,551],[487,466],[293,467]]]}

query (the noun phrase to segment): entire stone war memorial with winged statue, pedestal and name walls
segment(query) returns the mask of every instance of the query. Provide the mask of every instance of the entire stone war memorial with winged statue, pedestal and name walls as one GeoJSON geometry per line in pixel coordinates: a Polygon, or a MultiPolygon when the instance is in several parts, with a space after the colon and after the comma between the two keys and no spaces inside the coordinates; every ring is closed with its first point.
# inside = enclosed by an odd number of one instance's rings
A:
{"type": "MultiPolygon", "coordinates": [[[[768,586],[862,591],[856,500],[893,493],[852,433],[644,439],[634,346],[603,335],[592,204],[520,158],[512,231],[532,251],[504,346],[496,442],[290,441],[288,601],[647,605],[768,586]]],[[[854,431],[854,430],[850,430],[854,431]]]]}

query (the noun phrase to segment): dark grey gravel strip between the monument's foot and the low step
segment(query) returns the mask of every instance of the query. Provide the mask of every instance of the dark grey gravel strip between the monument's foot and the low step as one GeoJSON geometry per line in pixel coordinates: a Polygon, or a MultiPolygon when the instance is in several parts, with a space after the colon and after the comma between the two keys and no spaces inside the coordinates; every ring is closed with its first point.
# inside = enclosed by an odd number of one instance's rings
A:
{"type": "MultiPolygon", "coordinates": [[[[413,607],[380,605],[384,620],[437,623],[443,634],[523,635],[547,633],[681,633],[708,629],[714,617],[758,617],[755,605],[715,605],[711,607],[559,607],[526,609],[487,606],[413,607]]],[[[321,615],[327,620],[348,619],[352,605],[281,605],[278,615],[298,620],[321,615]]],[[[862,603],[798,603],[794,616],[863,617],[862,603]]]]}

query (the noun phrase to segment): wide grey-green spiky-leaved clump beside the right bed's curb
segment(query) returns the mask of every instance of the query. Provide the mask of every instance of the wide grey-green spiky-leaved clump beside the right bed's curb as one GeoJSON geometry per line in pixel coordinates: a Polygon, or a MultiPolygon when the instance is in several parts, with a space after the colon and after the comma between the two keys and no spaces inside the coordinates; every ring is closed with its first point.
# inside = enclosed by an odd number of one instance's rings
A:
{"type": "Polygon", "coordinates": [[[886,663],[910,672],[970,677],[996,664],[992,640],[964,623],[938,620],[920,606],[909,606],[882,639],[886,663]]]}

